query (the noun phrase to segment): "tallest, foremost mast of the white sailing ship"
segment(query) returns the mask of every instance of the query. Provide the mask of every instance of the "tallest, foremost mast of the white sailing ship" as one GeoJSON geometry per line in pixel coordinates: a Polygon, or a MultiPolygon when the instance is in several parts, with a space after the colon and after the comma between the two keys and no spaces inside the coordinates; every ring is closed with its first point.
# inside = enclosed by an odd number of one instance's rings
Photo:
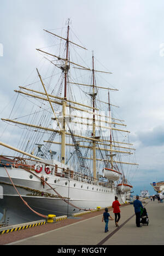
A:
{"type": "Polygon", "coordinates": [[[66,43],[66,60],[65,60],[65,92],[64,100],[62,101],[62,132],[61,132],[61,162],[65,164],[65,148],[66,148],[66,106],[67,106],[67,74],[69,70],[68,65],[68,46],[69,46],[69,19],[68,19],[68,28],[67,28],[67,43],[66,43]]]}

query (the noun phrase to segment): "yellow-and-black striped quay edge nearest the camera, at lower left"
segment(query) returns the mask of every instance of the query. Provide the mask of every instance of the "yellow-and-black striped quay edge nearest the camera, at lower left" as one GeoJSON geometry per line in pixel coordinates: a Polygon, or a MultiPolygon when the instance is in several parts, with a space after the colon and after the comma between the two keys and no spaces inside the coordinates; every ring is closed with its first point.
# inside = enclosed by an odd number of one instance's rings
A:
{"type": "Polygon", "coordinates": [[[14,231],[19,231],[23,229],[29,229],[33,228],[34,226],[40,226],[46,224],[45,220],[39,220],[37,222],[29,222],[29,223],[23,223],[23,224],[17,224],[13,226],[6,226],[3,228],[0,228],[0,235],[7,234],[14,231]]]}

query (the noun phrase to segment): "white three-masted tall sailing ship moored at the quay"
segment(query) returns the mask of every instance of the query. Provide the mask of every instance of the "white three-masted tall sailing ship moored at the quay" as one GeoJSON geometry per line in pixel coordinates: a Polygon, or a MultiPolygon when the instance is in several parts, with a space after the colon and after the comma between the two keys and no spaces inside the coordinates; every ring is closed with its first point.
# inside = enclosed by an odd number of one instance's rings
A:
{"type": "Polygon", "coordinates": [[[16,147],[0,142],[13,152],[0,156],[0,212],[7,210],[11,224],[107,207],[114,196],[124,203],[132,189],[124,170],[137,165],[125,160],[134,148],[124,120],[114,116],[110,94],[118,90],[102,85],[110,72],[95,69],[93,53],[86,65],[87,49],[70,39],[69,20],[66,36],[45,32],[54,44],[37,49],[44,67],[15,90],[10,118],[2,118],[22,131],[13,136],[16,147]]]}

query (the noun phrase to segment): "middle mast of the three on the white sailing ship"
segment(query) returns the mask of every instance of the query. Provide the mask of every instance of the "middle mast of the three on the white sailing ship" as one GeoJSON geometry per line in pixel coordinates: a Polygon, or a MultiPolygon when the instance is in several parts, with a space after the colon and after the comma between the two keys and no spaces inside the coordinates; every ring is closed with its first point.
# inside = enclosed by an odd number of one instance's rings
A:
{"type": "MultiPolygon", "coordinates": [[[[93,101],[93,130],[92,130],[92,137],[96,137],[96,124],[95,124],[95,70],[94,70],[94,56],[92,53],[92,80],[93,80],[93,86],[92,86],[92,101],[93,101]]],[[[93,178],[96,179],[96,141],[92,142],[92,148],[93,148],[93,178]]]]}

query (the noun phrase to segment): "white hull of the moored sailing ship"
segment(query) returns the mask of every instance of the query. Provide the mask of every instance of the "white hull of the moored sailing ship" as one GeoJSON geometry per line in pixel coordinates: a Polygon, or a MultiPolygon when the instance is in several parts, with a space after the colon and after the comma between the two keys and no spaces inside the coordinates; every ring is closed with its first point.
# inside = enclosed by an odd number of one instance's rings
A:
{"type": "MultiPolygon", "coordinates": [[[[112,205],[115,195],[118,196],[120,203],[124,203],[127,200],[126,194],[117,194],[115,188],[79,182],[74,179],[68,180],[67,178],[51,174],[37,174],[39,177],[44,176],[44,179],[47,178],[47,182],[62,197],[65,197],[66,200],[69,198],[69,202],[74,205],[71,206],[60,197],[48,196],[46,193],[55,194],[54,190],[47,184],[43,188],[40,180],[31,173],[19,168],[7,168],[7,170],[22,198],[34,211],[46,216],[48,214],[70,216],[72,213],[80,212],[77,207],[83,210],[93,209],[97,206],[108,207],[112,205]],[[36,190],[44,193],[44,195],[37,194],[36,190]]],[[[4,167],[0,167],[0,173],[0,185],[3,187],[3,199],[0,199],[0,212],[3,213],[3,209],[7,209],[9,223],[15,224],[40,218],[43,219],[43,217],[33,213],[21,200],[11,184],[4,167]]],[[[33,173],[35,174],[35,172],[33,173]]]]}

